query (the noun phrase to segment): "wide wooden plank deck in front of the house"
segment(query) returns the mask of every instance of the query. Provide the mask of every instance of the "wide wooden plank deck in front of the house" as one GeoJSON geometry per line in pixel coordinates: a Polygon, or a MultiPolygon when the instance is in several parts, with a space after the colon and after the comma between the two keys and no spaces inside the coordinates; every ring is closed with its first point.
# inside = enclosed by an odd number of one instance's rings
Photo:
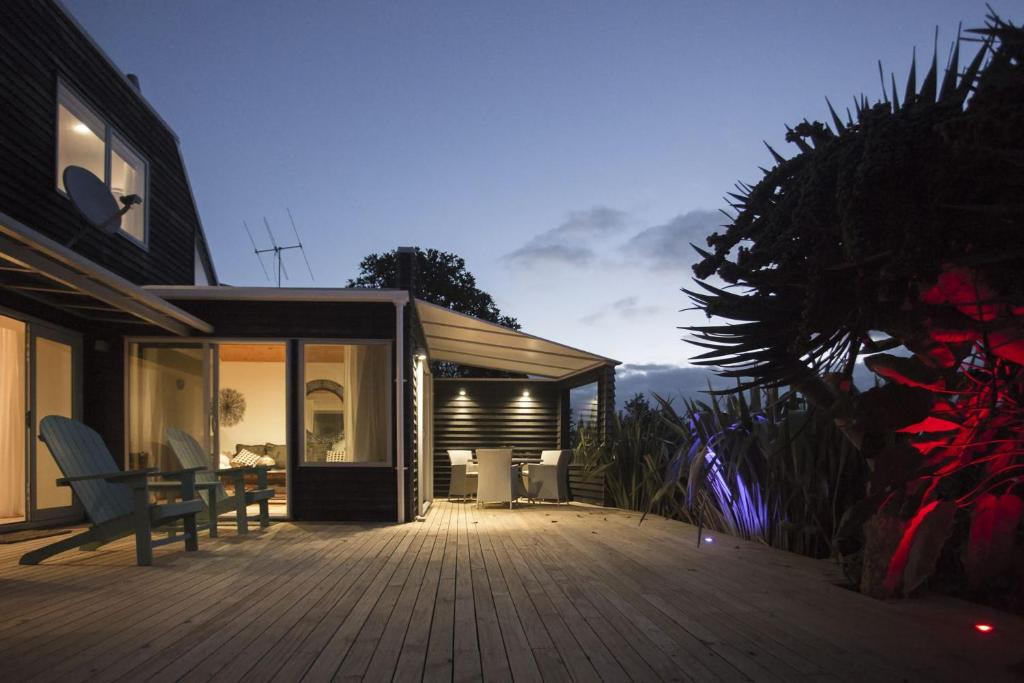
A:
{"type": "Polygon", "coordinates": [[[827,563],[587,506],[436,504],[200,552],[130,542],[40,566],[0,546],[5,681],[1018,680],[1024,620],[882,603],[827,563]],[[995,625],[982,635],[976,622],[995,625]]]}

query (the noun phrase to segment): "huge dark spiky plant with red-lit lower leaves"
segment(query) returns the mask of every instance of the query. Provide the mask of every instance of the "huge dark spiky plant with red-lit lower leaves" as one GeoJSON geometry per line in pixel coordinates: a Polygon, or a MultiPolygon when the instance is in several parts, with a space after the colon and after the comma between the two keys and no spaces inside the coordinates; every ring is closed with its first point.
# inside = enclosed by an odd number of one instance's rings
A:
{"type": "Polygon", "coordinates": [[[874,595],[920,586],[957,515],[984,546],[964,562],[1005,570],[1024,508],[1024,30],[992,15],[971,33],[963,71],[958,39],[944,73],[933,57],[919,86],[911,66],[902,97],[892,79],[845,121],[829,104],[830,127],[790,130],[799,154],[771,151],[698,249],[697,278],[731,287],[687,292],[729,321],[692,329],[695,362],[799,389],[872,464],[848,526],[869,520],[874,595]],[[865,352],[890,382],[857,394],[865,352]],[[980,530],[995,527],[1001,556],[980,530]]]}

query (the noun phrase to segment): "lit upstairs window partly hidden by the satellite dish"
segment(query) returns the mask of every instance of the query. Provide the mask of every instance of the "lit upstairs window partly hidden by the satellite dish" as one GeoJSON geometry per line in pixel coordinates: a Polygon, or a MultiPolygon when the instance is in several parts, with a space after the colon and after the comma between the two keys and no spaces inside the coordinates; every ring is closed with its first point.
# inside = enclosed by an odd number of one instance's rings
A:
{"type": "MultiPolygon", "coordinates": [[[[63,171],[81,166],[106,183],[114,197],[138,195],[141,205],[121,218],[121,231],[146,244],[146,163],[128,142],[114,132],[92,110],[66,88],[57,86],[57,181],[63,186],[63,171]]],[[[120,206],[120,202],[119,202],[120,206]]]]}

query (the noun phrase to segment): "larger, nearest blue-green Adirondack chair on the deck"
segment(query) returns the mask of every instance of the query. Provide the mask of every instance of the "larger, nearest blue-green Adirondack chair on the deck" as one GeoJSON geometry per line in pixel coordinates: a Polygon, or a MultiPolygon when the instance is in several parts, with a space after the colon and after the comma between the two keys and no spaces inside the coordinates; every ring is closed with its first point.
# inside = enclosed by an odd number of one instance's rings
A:
{"type": "Polygon", "coordinates": [[[22,556],[22,564],[39,564],[48,557],[72,548],[95,550],[117,539],[135,535],[135,560],[139,565],[153,564],[153,548],[184,541],[185,550],[199,550],[196,515],[203,502],[196,499],[196,471],[158,472],[156,469],[118,469],[103,439],[77,420],[50,415],[39,424],[39,438],[53,454],[63,478],[60,486],[71,486],[92,522],[82,533],[37,548],[22,556]],[[154,505],[150,503],[148,477],[175,477],[180,480],[181,500],[154,505]],[[153,528],[182,520],[183,536],[154,540],[153,528]]]}

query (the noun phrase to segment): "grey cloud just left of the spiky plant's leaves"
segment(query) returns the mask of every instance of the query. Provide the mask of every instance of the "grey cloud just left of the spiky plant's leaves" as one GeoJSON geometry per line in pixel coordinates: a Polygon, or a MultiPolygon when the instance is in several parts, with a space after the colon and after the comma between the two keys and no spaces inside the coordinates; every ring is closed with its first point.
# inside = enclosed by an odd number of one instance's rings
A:
{"type": "Polygon", "coordinates": [[[703,247],[706,238],[721,229],[725,216],[697,209],[635,234],[623,248],[630,261],[657,269],[681,270],[697,257],[690,243],[703,247]]]}

